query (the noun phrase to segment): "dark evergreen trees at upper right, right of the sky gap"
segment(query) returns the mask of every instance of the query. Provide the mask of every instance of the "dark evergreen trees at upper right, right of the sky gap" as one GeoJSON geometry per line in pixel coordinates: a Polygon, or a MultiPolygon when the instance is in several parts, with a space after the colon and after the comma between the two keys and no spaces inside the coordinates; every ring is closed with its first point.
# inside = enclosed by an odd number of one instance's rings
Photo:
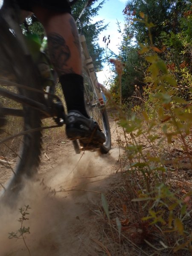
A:
{"type": "MultiPolygon", "coordinates": [[[[131,0],[124,9],[125,27],[119,58],[125,63],[122,76],[124,101],[133,95],[134,87],[150,84],[145,49],[151,45],[159,58],[165,61],[169,72],[177,80],[178,96],[189,99],[192,83],[192,6],[188,0],[131,0]],[[141,15],[147,20],[141,21],[141,15]],[[150,37],[148,36],[150,29],[150,37]],[[144,54],[144,56],[142,55],[144,54]]],[[[148,54],[150,54],[148,52],[148,54]]],[[[115,78],[116,81],[116,78],[115,78]]],[[[114,92],[116,83],[112,84],[114,92]]],[[[148,91],[149,93],[149,91],[148,91]]]]}

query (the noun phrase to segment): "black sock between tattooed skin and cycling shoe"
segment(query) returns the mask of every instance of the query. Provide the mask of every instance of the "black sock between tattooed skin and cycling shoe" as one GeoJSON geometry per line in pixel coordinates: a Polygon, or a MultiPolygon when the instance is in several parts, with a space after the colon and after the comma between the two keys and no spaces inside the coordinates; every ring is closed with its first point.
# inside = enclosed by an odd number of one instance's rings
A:
{"type": "Polygon", "coordinates": [[[84,105],[83,77],[71,73],[60,76],[59,80],[63,89],[67,111],[78,110],[88,118],[89,116],[84,105]]]}

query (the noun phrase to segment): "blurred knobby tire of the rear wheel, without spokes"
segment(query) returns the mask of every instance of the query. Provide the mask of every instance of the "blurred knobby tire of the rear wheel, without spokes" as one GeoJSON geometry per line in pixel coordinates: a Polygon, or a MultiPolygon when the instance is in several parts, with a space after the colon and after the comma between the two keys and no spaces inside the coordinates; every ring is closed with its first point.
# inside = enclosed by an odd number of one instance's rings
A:
{"type": "MultiPolygon", "coordinates": [[[[38,73],[34,69],[29,56],[24,55],[23,50],[16,37],[10,32],[5,20],[0,16],[0,68],[7,65],[9,73],[13,74],[17,83],[40,88],[40,81],[38,73]],[[8,67],[9,65],[9,67],[8,67]]],[[[1,85],[0,85],[1,86],[1,85]]],[[[24,89],[17,89],[18,93],[28,96],[31,99],[40,99],[42,96],[39,93],[27,91],[24,89]]],[[[23,130],[41,127],[40,113],[23,105],[23,130]]],[[[19,157],[17,157],[17,164],[8,185],[6,192],[15,192],[19,190],[22,183],[22,178],[33,177],[37,172],[39,164],[39,156],[41,154],[41,131],[35,131],[23,135],[23,140],[20,146],[19,157]]],[[[5,193],[6,194],[6,193],[5,193]]]]}

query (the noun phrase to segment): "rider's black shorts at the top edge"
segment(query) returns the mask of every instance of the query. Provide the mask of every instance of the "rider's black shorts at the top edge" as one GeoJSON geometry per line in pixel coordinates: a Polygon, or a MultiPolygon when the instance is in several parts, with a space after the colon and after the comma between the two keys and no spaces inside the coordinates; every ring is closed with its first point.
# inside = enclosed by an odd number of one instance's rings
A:
{"type": "Polygon", "coordinates": [[[55,12],[69,12],[71,8],[68,0],[17,0],[20,8],[32,12],[34,6],[41,6],[55,12]]]}

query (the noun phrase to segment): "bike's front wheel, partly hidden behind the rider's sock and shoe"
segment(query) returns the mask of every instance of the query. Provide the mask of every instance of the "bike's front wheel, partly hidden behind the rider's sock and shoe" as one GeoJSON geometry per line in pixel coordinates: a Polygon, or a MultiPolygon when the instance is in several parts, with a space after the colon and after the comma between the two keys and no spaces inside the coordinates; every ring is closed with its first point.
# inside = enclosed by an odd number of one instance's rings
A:
{"type": "Polygon", "coordinates": [[[106,106],[100,105],[88,71],[86,72],[84,70],[83,77],[85,108],[90,117],[98,123],[102,132],[105,134],[105,143],[100,146],[99,150],[101,154],[107,154],[111,149],[111,131],[106,106]]]}

